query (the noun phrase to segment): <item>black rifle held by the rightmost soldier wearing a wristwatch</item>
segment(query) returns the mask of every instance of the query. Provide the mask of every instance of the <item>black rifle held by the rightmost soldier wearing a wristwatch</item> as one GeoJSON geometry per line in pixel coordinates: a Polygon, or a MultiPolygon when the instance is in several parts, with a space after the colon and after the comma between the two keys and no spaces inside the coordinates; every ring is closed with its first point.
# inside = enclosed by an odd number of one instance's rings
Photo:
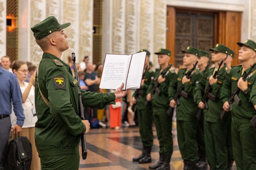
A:
{"type": "MultiPolygon", "coordinates": [[[[253,67],[256,65],[256,63],[253,63],[250,70],[248,71],[248,73],[246,73],[243,77],[243,80],[246,81],[247,80],[247,77],[249,76],[249,74],[251,74],[252,72],[252,69],[253,67]]],[[[241,100],[239,99],[238,97],[238,93],[240,92],[240,89],[236,86],[234,92],[231,94],[231,96],[229,97],[228,99],[228,104],[231,108],[231,104],[235,101],[237,105],[240,105],[241,104],[241,100]]],[[[227,116],[227,113],[225,110],[223,110],[220,114],[220,120],[223,121],[225,120],[226,116],[227,116]]],[[[252,120],[251,120],[252,121],[252,120]]],[[[250,122],[251,122],[250,121],[250,122]]]]}

